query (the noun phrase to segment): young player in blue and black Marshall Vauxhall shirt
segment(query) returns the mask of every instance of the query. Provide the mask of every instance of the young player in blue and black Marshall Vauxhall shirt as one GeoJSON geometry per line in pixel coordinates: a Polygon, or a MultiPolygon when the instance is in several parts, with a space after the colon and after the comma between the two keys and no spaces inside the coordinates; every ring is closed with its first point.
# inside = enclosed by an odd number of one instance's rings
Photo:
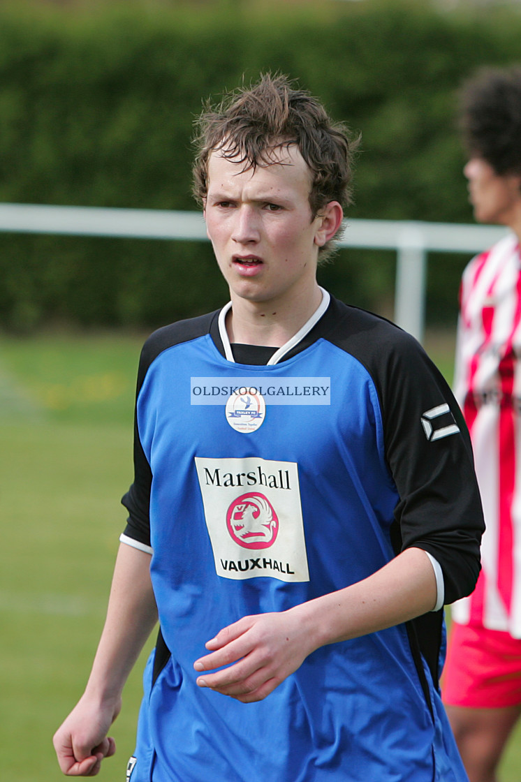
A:
{"type": "Polygon", "coordinates": [[[284,77],[199,131],[231,301],[143,349],[128,526],[59,764],[92,775],[113,754],[159,616],[131,782],[462,782],[437,675],[444,601],[480,569],[480,500],[419,345],[317,283],[356,142],[284,77]]]}

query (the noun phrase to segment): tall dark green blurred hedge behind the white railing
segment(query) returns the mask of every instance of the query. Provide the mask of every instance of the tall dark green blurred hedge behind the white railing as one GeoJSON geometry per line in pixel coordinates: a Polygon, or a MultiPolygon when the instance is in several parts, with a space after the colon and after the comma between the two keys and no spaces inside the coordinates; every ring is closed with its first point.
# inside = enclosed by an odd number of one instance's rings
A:
{"type": "MultiPolygon", "coordinates": [[[[195,209],[202,100],[281,70],[362,133],[350,217],[470,222],[455,89],[516,59],[521,15],[418,5],[2,5],[0,201],[195,209]]],[[[431,264],[431,320],[455,317],[465,260],[431,264]]],[[[393,267],[393,253],[349,250],[321,279],[384,310],[393,267]]],[[[0,234],[4,328],[153,327],[225,296],[207,243],[0,234]]]]}

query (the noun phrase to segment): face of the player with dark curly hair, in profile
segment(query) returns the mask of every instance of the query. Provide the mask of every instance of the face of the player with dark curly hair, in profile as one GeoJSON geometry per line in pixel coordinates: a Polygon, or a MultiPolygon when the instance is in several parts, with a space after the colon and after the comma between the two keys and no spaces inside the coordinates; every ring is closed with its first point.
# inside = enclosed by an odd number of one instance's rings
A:
{"type": "Polygon", "coordinates": [[[512,225],[521,203],[521,177],[497,174],[480,157],[472,157],[463,169],[469,181],[469,201],[480,223],[512,225]]]}

